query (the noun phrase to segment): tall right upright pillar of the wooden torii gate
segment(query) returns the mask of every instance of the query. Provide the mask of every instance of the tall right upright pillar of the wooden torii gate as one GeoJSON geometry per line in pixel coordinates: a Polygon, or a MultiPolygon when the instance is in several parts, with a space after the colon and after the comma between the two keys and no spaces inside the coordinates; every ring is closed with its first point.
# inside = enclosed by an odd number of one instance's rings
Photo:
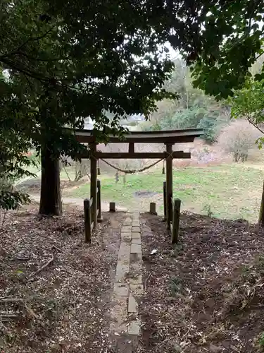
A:
{"type": "Polygon", "coordinates": [[[172,143],[166,145],[168,157],[166,158],[166,211],[167,229],[170,229],[172,222],[172,143]]]}

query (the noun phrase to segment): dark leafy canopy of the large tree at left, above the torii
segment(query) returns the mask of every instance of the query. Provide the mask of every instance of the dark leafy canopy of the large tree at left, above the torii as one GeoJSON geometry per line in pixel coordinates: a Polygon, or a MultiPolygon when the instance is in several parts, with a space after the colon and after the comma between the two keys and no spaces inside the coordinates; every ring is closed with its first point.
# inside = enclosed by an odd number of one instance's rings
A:
{"type": "Polygon", "coordinates": [[[84,146],[65,126],[82,128],[90,116],[106,142],[122,132],[120,117],[149,116],[156,101],[172,97],[163,89],[172,69],[163,52],[174,24],[181,42],[193,42],[184,4],[1,1],[0,177],[28,174],[30,148],[76,157],[84,146]]]}

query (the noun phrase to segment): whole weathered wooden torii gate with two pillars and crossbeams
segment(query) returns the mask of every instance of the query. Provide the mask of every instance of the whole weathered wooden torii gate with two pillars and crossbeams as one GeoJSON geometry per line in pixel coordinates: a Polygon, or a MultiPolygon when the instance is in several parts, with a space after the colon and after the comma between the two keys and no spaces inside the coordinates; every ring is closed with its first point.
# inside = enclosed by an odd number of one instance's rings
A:
{"type": "MultiPolygon", "coordinates": [[[[201,128],[188,128],[184,130],[170,131],[131,131],[125,133],[122,140],[118,136],[109,136],[108,143],[128,143],[127,152],[101,152],[96,151],[96,135],[93,130],[77,130],[75,136],[80,143],[89,143],[91,154],[89,155],[91,164],[91,184],[90,198],[93,198],[92,215],[94,219],[94,228],[96,228],[96,191],[97,191],[97,160],[100,159],[125,159],[125,158],[147,158],[147,159],[165,159],[166,160],[166,208],[167,208],[167,226],[170,229],[172,222],[172,160],[177,158],[191,158],[191,153],[184,151],[173,151],[172,146],[175,143],[191,143],[194,138],[203,135],[201,128]],[[166,146],[164,152],[134,152],[135,143],[163,143],[166,146]]],[[[82,158],[87,156],[82,156],[82,158]]]]}

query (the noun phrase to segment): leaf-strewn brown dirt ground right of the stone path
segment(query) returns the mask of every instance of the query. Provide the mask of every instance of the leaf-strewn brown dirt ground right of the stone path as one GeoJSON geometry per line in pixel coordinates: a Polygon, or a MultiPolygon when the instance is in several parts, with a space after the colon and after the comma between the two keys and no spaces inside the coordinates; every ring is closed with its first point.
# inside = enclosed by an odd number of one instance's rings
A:
{"type": "Polygon", "coordinates": [[[138,352],[264,352],[264,231],[185,214],[172,246],[161,217],[142,215],[142,229],[138,352]]]}

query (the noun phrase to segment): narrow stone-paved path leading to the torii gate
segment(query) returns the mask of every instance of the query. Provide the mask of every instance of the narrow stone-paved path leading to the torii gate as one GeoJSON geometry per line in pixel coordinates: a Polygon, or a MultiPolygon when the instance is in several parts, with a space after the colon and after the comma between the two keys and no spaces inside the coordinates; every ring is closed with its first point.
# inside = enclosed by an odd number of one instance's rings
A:
{"type": "Polygon", "coordinates": [[[139,213],[127,213],[121,229],[111,307],[114,352],[135,352],[141,330],[138,304],[142,285],[142,246],[139,213]]]}

